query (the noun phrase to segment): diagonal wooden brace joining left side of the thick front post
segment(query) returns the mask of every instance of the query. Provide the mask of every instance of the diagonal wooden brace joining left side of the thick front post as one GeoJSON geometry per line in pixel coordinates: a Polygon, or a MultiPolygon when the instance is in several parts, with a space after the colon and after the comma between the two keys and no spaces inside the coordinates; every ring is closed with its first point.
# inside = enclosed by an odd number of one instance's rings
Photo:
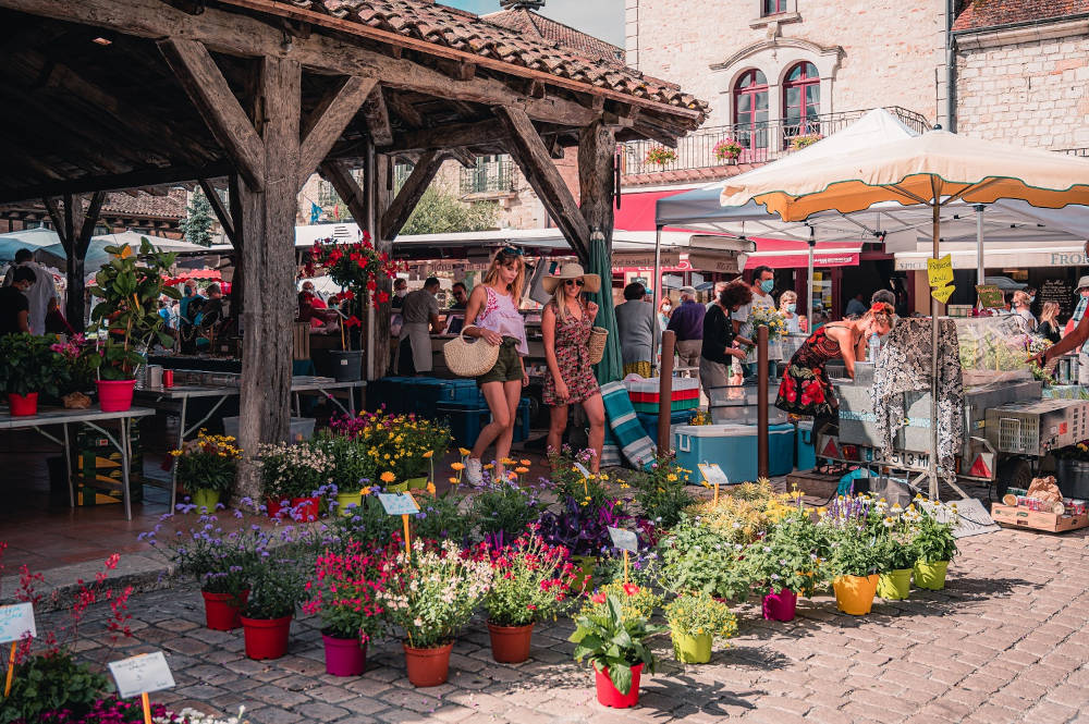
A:
{"type": "Polygon", "coordinates": [[[158,45],[178,81],[204,116],[208,130],[238,168],[246,185],[253,191],[261,191],[265,184],[265,168],[261,165],[265,147],[211,53],[196,40],[167,38],[158,45]]]}

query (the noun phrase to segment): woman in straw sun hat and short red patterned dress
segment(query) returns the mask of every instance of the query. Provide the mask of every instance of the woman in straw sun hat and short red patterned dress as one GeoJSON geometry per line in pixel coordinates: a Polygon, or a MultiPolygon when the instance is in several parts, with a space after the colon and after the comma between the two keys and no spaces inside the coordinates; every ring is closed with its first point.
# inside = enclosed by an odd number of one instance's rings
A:
{"type": "Polygon", "coordinates": [[[541,333],[544,336],[544,404],[550,407],[548,430],[549,451],[559,451],[567,427],[567,405],[580,403],[590,422],[589,446],[595,452],[594,473],[601,464],[601,447],[605,437],[605,408],[601,390],[590,367],[587,342],[598,305],[583,299],[583,292],[601,290],[601,278],[587,274],[577,263],[565,263],[558,277],[541,281],[552,300],[544,306],[541,333]]]}

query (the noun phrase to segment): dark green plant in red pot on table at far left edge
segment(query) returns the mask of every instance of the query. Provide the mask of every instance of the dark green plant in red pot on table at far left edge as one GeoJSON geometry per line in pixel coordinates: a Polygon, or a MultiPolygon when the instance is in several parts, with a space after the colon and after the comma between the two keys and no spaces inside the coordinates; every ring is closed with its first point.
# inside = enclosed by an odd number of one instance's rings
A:
{"type": "Polygon", "coordinates": [[[38,395],[56,395],[64,363],[51,349],[54,338],[29,332],[0,336],[0,385],[12,417],[38,414],[38,395]]]}

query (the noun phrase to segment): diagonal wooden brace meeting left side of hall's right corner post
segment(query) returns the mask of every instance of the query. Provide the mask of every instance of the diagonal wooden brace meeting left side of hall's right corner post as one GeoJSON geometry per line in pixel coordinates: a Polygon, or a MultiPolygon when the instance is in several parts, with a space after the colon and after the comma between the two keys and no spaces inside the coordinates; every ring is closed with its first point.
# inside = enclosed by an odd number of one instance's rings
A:
{"type": "Polygon", "coordinates": [[[578,258],[589,261],[590,228],[578,210],[575,198],[567,188],[563,176],[555,168],[544,142],[537,134],[533,121],[521,108],[499,107],[495,115],[506,126],[511,136],[511,156],[522,169],[529,185],[537,192],[549,216],[555,222],[564,238],[571,244],[578,258]]]}

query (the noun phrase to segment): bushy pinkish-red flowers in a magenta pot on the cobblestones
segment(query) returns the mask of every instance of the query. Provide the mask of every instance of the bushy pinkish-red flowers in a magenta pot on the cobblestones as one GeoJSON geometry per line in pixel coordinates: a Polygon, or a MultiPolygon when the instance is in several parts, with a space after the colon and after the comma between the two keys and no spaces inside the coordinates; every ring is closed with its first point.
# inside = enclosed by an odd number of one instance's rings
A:
{"type": "Polygon", "coordinates": [[[367,667],[367,643],[380,635],[384,618],[378,593],[386,584],[380,556],[351,541],[343,553],[326,552],[306,581],[310,599],[303,612],[321,616],[326,673],[358,676],[367,667]]]}

